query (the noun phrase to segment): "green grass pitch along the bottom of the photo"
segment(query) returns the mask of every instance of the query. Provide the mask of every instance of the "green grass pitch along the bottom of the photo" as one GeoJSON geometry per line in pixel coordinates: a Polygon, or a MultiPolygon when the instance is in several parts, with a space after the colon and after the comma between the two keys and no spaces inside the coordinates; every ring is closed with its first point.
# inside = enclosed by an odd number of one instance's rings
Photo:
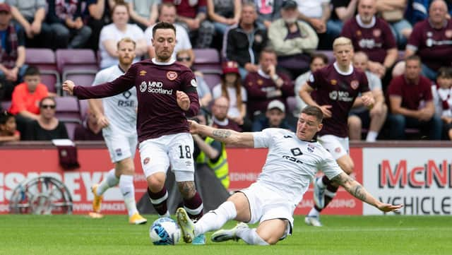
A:
{"type": "Polygon", "coordinates": [[[156,217],[146,216],[147,225],[135,226],[125,215],[0,215],[0,254],[452,254],[450,216],[323,216],[325,227],[297,216],[293,235],[271,247],[209,239],[159,247],[148,236],[156,217]]]}

